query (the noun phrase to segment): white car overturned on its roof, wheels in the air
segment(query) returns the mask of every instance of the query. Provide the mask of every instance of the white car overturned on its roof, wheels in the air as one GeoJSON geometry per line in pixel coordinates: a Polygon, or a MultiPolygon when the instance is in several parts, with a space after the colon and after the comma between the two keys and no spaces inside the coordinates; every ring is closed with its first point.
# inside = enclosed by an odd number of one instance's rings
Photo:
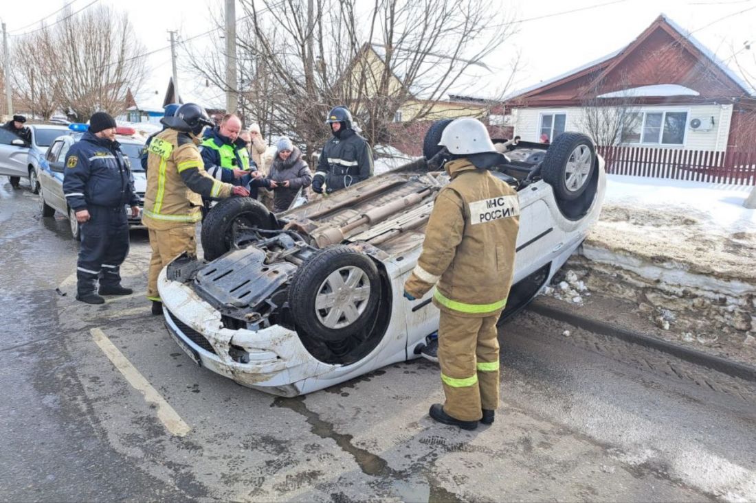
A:
{"type": "MultiPolygon", "coordinates": [[[[426,135],[427,159],[448,122],[426,135]]],[[[583,134],[521,142],[507,156],[494,172],[516,187],[521,213],[502,319],[575,252],[606,184],[583,134]]],[[[172,337],[200,366],[286,397],[416,358],[438,310],[432,292],[410,302],[403,285],[449,181],[426,158],[280,214],[249,198],[218,203],[203,225],[205,260],[181,256],[160,275],[172,337]]]]}

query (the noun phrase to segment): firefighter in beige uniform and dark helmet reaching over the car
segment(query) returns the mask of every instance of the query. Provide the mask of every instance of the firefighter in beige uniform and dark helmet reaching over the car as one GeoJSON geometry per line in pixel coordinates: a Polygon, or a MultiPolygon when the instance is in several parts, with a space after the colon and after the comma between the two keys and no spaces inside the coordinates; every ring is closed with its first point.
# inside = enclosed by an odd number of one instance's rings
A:
{"type": "Polygon", "coordinates": [[[197,145],[203,128],[212,126],[212,122],[200,106],[185,103],[175,116],[165,117],[161,122],[167,129],[153,137],[147,146],[147,192],[142,214],[152,248],[147,298],[153,302],[153,314],[163,312],[157,292],[160,270],[183,252],[197,255],[194,227],[202,219],[201,196],[249,195],[244,187],[224,184],[205,172],[197,145]]]}

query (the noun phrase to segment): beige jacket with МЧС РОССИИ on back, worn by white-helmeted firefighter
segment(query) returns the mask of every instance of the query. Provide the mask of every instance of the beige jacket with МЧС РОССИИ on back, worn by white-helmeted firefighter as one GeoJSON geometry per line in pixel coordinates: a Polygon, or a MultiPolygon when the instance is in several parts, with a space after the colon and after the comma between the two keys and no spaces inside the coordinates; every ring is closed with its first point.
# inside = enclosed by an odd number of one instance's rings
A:
{"type": "Polygon", "coordinates": [[[491,316],[507,305],[519,230],[515,190],[466,159],[445,166],[423,252],[404,289],[420,298],[436,286],[433,304],[458,316],[491,316]]]}

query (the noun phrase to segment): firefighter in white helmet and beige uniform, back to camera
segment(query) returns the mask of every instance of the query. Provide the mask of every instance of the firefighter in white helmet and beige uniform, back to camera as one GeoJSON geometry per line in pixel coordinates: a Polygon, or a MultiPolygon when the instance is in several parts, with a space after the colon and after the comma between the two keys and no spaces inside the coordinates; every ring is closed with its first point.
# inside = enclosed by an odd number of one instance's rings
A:
{"type": "Polygon", "coordinates": [[[487,169],[503,162],[485,126],[456,119],[439,145],[451,154],[451,182],[435,199],[423,252],[404,283],[411,301],[435,285],[441,310],[438,363],[446,395],[430,416],[474,430],[491,424],[499,401],[496,323],[507,304],[519,229],[519,199],[487,169]]]}

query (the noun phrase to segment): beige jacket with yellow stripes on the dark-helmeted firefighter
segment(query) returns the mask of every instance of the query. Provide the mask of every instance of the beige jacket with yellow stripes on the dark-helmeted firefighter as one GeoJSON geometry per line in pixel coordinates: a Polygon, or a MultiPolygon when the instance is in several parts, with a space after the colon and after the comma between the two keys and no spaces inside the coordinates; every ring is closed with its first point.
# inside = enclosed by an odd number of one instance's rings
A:
{"type": "Polygon", "coordinates": [[[201,196],[228,197],[231,184],[205,172],[197,144],[187,133],[166,129],[147,147],[147,192],[144,193],[144,225],[166,230],[202,219],[201,196]]]}

